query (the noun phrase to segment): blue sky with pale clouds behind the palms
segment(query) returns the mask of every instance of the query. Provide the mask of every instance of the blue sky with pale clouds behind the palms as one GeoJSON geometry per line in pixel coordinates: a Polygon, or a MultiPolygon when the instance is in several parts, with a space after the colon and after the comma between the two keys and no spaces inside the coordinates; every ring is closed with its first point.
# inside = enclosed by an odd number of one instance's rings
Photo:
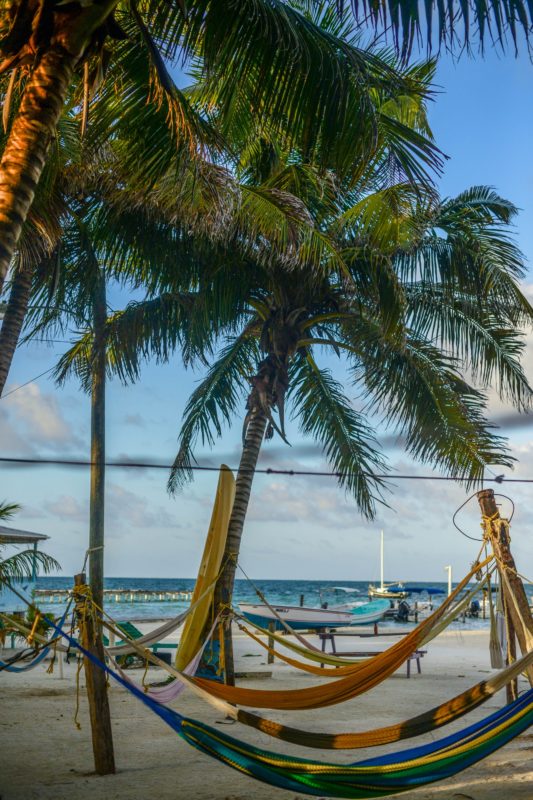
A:
{"type": "MultiPolygon", "coordinates": [[[[484,60],[442,59],[436,83],[439,94],[430,119],[441,149],[450,157],[439,181],[444,195],[488,184],[521,208],[516,236],[528,261],[533,259],[533,65],[525,56],[484,60]]],[[[533,288],[533,273],[526,280],[533,288]]],[[[533,338],[530,337],[533,341],[533,338]]],[[[19,349],[10,389],[52,366],[61,345],[33,343],[19,349]]],[[[526,369],[533,379],[533,347],[526,369]]],[[[179,359],[148,365],[134,387],[112,382],[108,390],[110,458],[129,456],[172,461],[179,420],[188,394],[201,373],[185,372],[179,359]]],[[[492,405],[497,416],[505,411],[492,405]]],[[[506,433],[506,431],[503,431],[506,433]]],[[[263,464],[308,469],[324,467],[312,449],[298,448],[289,429],[291,450],[279,441],[265,446],[263,464]]],[[[516,475],[533,477],[533,430],[509,431],[516,475]]],[[[240,421],[205,463],[238,462],[240,421]]],[[[84,457],[88,454],[89,402],[74,382],[58,390],[46,377],[0,400],[3,455],[84,457]]],[[[388,450],[396,472],[427,474],[399,449],[388,450]]],[[[47,550],[64,574],[79,570],[87,546],[89,476],[83,469],[0,467],[0,498],[19,502],[18,527],[50,535],[47,550]]],[[[106,573],[113,576],[191,577],[195,574],[209,522],[216,475],[196,478],[186,491],[170,498],[160,471],[109,470],[106,520],[106,573]]],[[[533,487],[504,489],[517,503],[513,527],[515,556],[525,573],[533,571],[533,543],[528,543],[533,487]]],[[[453,484],[397,481],[388,495],[390,509],[373,523],[361,519],[354,503],[334,479],[257,476],[243,542],[243,565],[255,577],[366,579],[379,569],[379,530],[386,535],[386,572],[391,579],[444,580],[444,566],[464,574],[475,543],[452,526],[453,511],[466,498],[453,484]]],[[[506,502],[506,501],[504,501],[506,502]]],[[[474,504],[461,515],[463,527],[476,536],[474,504]]],[[[529,537],[530,538],[530,537],[529,537]]]]}

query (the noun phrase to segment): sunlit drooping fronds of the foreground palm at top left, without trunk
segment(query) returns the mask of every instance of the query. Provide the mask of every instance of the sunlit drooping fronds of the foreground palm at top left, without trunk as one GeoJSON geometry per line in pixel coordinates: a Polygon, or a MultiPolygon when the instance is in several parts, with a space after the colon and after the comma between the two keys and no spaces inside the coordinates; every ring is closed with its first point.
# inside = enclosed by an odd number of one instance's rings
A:
{"type": "MultiPolygon", "coordinates": [[[[76,3],[57,7],[46,0],[42,5],[48,24],[36,26],[40,3],[3,2],[0,50],[5,58],[0,71],[11,74],[5,120],[11,106],[16,107],[28,69],[47,48],[57,46],[57,39],[74,36],[93,4],[82,4],[81,11],[76,3]]],[[[374,148],[376,97],[383,101],[399,90],[407,95],[421,90],[420,82],[415,85],[385,53],[362,47],[353,26],[340,24],[324,0],[239,0],[231,13],[220,0],[187,4],[185,14],[179,3],[160,0],[108,0],[99,8],[104,20],[81,57],[84,66],[72,87],[74,97],[86,110],[90,103],[91,124],[100,140],[135,130],[131,164],[144,163],[147,174],[160,173],[165,162],[170,165],[176,147],[192,158],[222,152],[218,130],[238,119],[244,134],[250,116],[267,133],[283,133],[307,157],[320,153],[341,172],[343,162],[346,169],[347,161],[374,148]],[[169,62],[193,64],[204,86],[201,96],[195,92],[193,101],[177,87],[169,62]],[[154,139],[158,114],[169,122],[169,149],[154,139]],[[210,122],[213,114],[216,128],[210,122]]],[[[83,127],[85,121],[84,115],[83,127]]],[[[431,147],[421,140],[413,146],[425,148],[428,165],[438,166],[431,147]]]]}

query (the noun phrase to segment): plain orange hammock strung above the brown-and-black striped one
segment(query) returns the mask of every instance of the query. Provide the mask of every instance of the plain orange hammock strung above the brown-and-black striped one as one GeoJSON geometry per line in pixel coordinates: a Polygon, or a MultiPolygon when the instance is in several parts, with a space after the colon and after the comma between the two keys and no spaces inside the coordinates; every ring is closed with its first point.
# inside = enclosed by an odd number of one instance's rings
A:
{"type": "MultiPolygon", "coordinates": [[[[411,633],[401,639],[392,647],[379,653],[367,661],[347,668],[346,677],[334,680],[326,685],[309,686],[304,689],[272,690],[272,689],[243,689],[240,686],[226,686],[204,678],[194,678],[193,682],[205,689],[213,697],[218,697],[228,703],[254,708],[278,709],[311,709],[324,708],[325,706],[342,703],[350,700],[363,692],[377,686],[393,672],[396,672],[404,661],[424,641],[429,630],[441,619],[457,595],[462,592],[473,575],[492,560],[485,559],[477,563],[461,583],[454,589],[447,600],[424,620],[411,633]]],[[[342,668],[341,668],[342,669],[342,668]]],[[[345,668],[346,669],[346,668],[345,668]]],[[[337,674],[339,671],[337,671],[337,674]]]]}

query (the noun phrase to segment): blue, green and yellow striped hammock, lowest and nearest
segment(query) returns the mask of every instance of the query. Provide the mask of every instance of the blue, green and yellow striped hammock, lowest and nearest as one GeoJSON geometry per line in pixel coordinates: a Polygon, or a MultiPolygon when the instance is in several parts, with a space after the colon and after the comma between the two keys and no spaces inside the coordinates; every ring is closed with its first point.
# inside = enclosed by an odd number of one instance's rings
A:
{"type": "Polygon", "coordinates": [[[533,724],[533,689],[490,716],[438,742],[346,766],[287,757],[253,747],[162,706],[52,623],[88,659],[148,706],[185,741],[234,769],[272,786],[310,795],[381,797],[460,772],[533,724]]]}

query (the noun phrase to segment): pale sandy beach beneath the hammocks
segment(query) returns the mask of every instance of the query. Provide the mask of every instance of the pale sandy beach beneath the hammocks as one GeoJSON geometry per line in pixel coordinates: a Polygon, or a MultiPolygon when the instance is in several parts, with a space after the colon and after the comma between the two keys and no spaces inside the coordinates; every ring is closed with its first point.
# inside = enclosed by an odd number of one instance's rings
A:
{"type": "MultiPolygon", "coordinates": [[[[141,626],[144,631],[152,625],[141,626]]],[[[367,639],[369,649],[387,639],[367,639]]],[[[366,644],[365,644],[366,647],[366,644]]],[[[412,717],[488,676],[488,633],[448,631],[428,646],[422,673],[416,668],[408,680],[403,666],[372,692],[330,708],[308,712],[265,711],[264,716],[316,731],[355,731],[375,728],[412,717]]],[[[7,651],[6,651],[7,654],[7,651]]],[[[236,637],[237,668],[249,673],[272,669],[272,677],[246,678],[248,687],[296,688],[317,682],[284,664],[266,665],[265,652],[247,638],[236,637]]],[[[106,800],[296,800],[295,795],[271,788],[229,769],[195,751],[136,698],[113,682],[110,702],[117,774],[92,774],[91,733],[81,678],[79,721],[74,724],[76,667],[64,665],[60,677],[48,664],[19,675],[0,673],[0,796],[2,800],[60,800],[76,797],[106,800]]],[[[131,670],[140,681],[143,671],[131,670]]],[[[149,681],[163,680],[161,669],[150,669],[149,681]]],[[[526,687],[520,679],[520,688],[526,687]]],[[[172,705],[188,716],[208,722],[237,738],[266,749],[294,753],[314,760],[348,763],[378,752],[406,749],[465,727],[499,708],[500,692],[468,717],[433,735],[411,742],[352,752],[310,750],[288,745],[238,724],[227,724],[209,706],[186,691],[172,705]]],[[[441,783],[403,794],[405,800],[531,800],[533,797],[533,732],[524,734],[485,761],[441,783]]]]}

